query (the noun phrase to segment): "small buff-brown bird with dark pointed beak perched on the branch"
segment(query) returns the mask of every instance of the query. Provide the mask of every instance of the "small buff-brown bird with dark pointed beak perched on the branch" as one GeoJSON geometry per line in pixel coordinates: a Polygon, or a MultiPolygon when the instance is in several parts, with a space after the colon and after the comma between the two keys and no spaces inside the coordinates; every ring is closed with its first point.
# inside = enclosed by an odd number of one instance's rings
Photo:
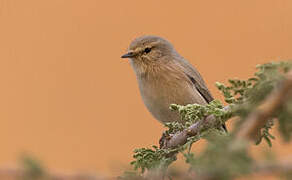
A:
{"type": "MultiPolygon", "coordinates": [[[[162,123],[182,122],[170,104],[204,105],[213,100],[199,72],[161,37],[136,38],[121,58],[130,59],[144,104],[162,123]]],[[[227,131],[225,124],[223,129],[227,131]]]]}

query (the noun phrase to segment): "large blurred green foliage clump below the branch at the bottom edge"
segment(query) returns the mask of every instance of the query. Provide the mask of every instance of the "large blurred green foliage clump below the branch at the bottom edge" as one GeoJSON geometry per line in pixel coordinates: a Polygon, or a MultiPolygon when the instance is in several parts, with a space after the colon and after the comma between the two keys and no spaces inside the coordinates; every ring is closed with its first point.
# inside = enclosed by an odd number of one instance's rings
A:
{"type": "Polygon", "coordinates": [[[253,161],[247,154],[245,143],[237,142],[236,147],[230,147],[231,136],[214,132],[206,138],[209,143],[201,154],[184,153],[186,163],[198,177],[228,180],[251,171],[253,161]]]}

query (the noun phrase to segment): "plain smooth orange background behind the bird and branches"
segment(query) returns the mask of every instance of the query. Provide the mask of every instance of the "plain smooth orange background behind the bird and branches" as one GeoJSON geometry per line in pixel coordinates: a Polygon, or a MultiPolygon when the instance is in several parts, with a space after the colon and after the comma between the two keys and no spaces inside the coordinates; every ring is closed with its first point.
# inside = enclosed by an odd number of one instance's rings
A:
{"type": "Polygon", "coordinates": [[[291,19],[291,0],[0,0],[0,166],[29,152],[54,170],[120,174],[163,130],[120,59],[131,40],[168,39],[222,98],[216,81],[292,58],[291,19]]]}

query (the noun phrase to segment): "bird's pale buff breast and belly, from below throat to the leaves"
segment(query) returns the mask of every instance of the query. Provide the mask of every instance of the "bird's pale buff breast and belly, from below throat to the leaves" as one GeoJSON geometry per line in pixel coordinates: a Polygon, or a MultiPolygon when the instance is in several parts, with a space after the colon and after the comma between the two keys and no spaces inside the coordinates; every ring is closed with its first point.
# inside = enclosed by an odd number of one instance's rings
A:
{"type": "Polygon", "coordinates": [[[144,104],[160,122],[180,121],[178,113],[170,111],[170,104],[206,103],[182,73],[167,71],[137,79],[144,104]]]}

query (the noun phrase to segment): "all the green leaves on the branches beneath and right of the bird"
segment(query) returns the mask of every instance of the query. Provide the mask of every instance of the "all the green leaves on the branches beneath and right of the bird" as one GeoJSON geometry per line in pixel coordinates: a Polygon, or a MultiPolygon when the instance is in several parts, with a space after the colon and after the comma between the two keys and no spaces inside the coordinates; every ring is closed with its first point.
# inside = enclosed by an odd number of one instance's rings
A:
{"type": "MultiPolygon", "coordinates": [[[[272,62],[257,66],[257,72],[247,80],[231,79],[229,85],[216,83],[222,92],[225,102],[229,104],[230,110],[226,111],[223,104],[214,100],[208,105],[189,104],[186,106],[172,104],[170,109],[180,114],[181,122],[166,123],[165,134],[171,136],[185,128],[190,127],[197,121],[214,115],[219,124],[233,116],[237,116],[236,132],[239,125],[246,120],[246,117],[257,108],[262,101],[277,88],[285,78],[285,73],[292,67],[291,62],[272,62]]],[[[292,100],[287,100],[285,104],[277,109],[272,118],[260,130],[257,144],[264,139],[269,146],[272,146],[272,139],[275,139],[269,132],[274,125],[274,119],[279,122],[279,132],[282,137],[289,141],[292,133],[292,100]]],[[[218,126],[219,127],[219,126],[218,126]]],[[[134,161],[131,164],[140,173],[145,170],[166,169],[173,161],[175,152],[183,153],[186,163],[190,165],[190,170],[196,175],[211,176],[217,179],[232,179],[235,176],[250,173],[253,159],[247,154],[247,147],[244,142],[238,142],[235,146],[230,146],[234,140],[234,133],[225,134],[216,128],[202,129],[196,136],[190,137],[185,145],[175,149],[153,148],[136,149],[134,161]],[[186,151],[192,143],[200,138],[206,138],[208,145],[205,151],[199,155],[194,155],[186,151]]],[[[215,178],[215,179],[216,179],[215,178]]],[[[212,179],[212,178],[211,178],[212,179]]]]}

